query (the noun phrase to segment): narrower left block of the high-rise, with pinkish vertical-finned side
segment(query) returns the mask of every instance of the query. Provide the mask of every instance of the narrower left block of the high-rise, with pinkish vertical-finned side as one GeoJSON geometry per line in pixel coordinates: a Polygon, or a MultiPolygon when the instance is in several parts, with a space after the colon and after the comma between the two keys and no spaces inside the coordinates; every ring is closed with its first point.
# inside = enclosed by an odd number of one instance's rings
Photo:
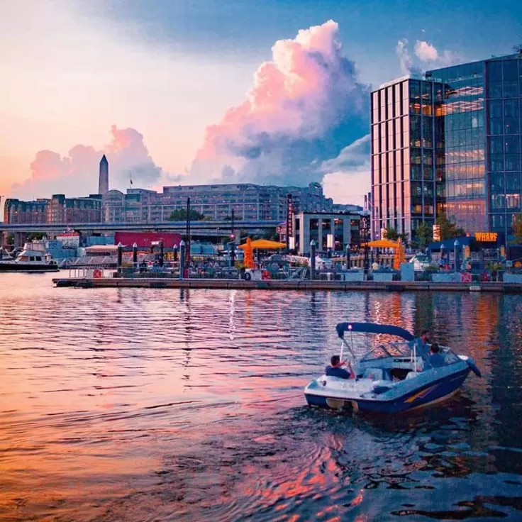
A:
{"type": "Polygon", "coordinates": [[[442,85],[422,79],[402,78],[372,92],[374,236],[389,226],[413,237],[423,221],[433,225],[442,104],[442,85]]]}

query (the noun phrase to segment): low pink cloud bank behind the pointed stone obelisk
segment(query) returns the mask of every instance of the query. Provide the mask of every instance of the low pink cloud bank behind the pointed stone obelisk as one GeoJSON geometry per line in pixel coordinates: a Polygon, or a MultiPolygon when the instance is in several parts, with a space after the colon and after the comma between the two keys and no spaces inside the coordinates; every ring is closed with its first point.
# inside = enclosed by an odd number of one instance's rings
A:
{"type": "Polygon", "coordinates": [[[102,150],[75,145],[66,156],[40,150],[30,164],[31,177],[13,184],[10,195],[21,199],[49,197],[52,194],[87,196],[98,191],[99,162],[109,160],[109,188],[148,187],[160,181],[162,170],[150,157],[143,135],[133,128],[111,127],[111,142],[102,150]]]}

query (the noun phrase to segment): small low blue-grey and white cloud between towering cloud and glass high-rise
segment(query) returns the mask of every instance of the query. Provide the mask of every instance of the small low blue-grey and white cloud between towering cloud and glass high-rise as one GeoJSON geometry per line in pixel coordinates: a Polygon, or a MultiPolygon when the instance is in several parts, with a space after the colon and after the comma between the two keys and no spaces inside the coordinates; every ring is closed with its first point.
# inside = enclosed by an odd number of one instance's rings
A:
{"type": "Polygon", "coordinates": [[[340,154],[321,164],[323,190],[335,203],[363,204],[370,191],[370,134],[355,140],[340,154]]]}

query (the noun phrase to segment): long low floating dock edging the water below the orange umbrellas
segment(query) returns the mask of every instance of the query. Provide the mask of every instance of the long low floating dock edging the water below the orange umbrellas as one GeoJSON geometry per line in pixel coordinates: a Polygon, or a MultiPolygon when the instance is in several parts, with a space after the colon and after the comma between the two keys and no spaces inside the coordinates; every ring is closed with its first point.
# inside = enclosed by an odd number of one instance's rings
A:
{"type": "Polygon", "coordinates": [[[268,279],[244,281],[243,279],[174,279],[153,277],[102,277],[99,279],[62,278],[52,279],[58,288],[165,288],[165,289],[224,289],[224,290],[338,290],[338,291],[485,291],[522,293],[522,284],[503,282],[488,283],[434,283],[416,282],[343,282],[268,279]]]}

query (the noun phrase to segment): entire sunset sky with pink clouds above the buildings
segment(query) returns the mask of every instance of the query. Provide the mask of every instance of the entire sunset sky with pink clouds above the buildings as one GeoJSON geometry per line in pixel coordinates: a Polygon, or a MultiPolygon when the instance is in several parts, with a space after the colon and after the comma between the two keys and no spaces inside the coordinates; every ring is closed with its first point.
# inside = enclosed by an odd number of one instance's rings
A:
{"type": "Polygon", "coordinates": [[[369,96],[505,55],[518,1],[1,0],[0,196],[110,187],[370,189],[369,96]]]}

